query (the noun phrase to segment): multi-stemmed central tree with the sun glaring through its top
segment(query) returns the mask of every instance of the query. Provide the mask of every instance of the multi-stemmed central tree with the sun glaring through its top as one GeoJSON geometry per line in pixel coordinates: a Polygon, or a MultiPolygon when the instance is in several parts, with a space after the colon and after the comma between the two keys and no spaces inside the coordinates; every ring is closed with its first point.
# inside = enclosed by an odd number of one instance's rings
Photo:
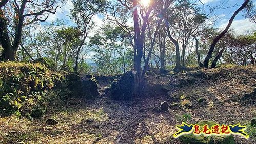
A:
{"type": "Polygon", "coordinates": [[[157,36],[157,30],[153,34],[153,39],[151,43],[151,47],[148,53],[148,57],[146,59],[146,63],[144,66],[144,70],[142,71],[142,56],[144,50],[144,40],[145,40],[145,32],[149,24],[152,22],[153,18],[158,18],[157,27],[160,27],[162,20],[166,14],[167,8],[173,2],[171,0],[166,1],[150,1],[151,3],[148,5],[141,5],[141,1],[139,0],[118,0],[123,6],[125,6],[128,10],[132,12],[133,15],[133,23],[134,23],[134,71],[135,71],[135,85],[134,85],[134,93],[139,91],[140,84],[142,82],[143,73],[146,71],[148,66],[149,57],[151,55],[153,45],[155,42],[155,38],[157,36]],[[159,17],[156,17],[159,15],[159,17]]]}

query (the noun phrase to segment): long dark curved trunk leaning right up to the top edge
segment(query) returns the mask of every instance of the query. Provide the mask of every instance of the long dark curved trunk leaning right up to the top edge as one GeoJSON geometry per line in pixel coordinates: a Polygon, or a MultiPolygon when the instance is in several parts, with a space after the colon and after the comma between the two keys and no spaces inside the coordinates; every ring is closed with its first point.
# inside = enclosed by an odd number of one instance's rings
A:
{"type": "Polygon", "coordinates": [[[212,53],[213,53],[213,51],[214,51],[214,48],[215,48],[216,44],[217,44],[218,41],[227,33],[227,31],[228,31],[228,29],[230,28],[230,26],[231,26],[231,24],[232,24],[232,22],[233,22],[235,16],[236,16],[242,9],[244,9],[244,8],[246,7],[246,5],[248,4],[248,2],[249,2],[249,0],[246,0],[246,1],[243,3],[243,5],[242,5],[239,9],[237,9],[237,10],[234,12],[234,14],[233,14],[232,17],[230,18],[229,23],[228,23],[228,25],[226,26],[225,30],[224,30],[221,34],[219,34],[218,36],[216,36],[215,39],[213,40],[213,42],[212,42],[212,44],[211,44],[211,46],[210,46],[210,49],[209,49],[209,51],[208,51],[208,54],[207,54],[207,56],[205,57],[205,60],[204,60],[204,67],[205,67],[205,68],[208,68],[208,63],[209,63],[209,60],[212,58],[212,53]]]}

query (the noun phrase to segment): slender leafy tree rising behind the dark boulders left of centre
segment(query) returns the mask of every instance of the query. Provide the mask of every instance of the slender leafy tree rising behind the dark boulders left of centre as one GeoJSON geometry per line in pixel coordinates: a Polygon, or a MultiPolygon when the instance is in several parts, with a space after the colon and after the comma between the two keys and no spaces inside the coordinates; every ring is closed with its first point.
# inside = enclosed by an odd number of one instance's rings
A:
{"type": "Polygon", "coordinates": [[[71,10],[72,19],[74,20],[80,32],[80,44],[76,51],[76,60],[74,71],[78,69],[79,55],[88,36],[89,30],[93,26],[92,18],[94,15],[104,10],[105,0],[74,0],[74,8],[71,10]]]}

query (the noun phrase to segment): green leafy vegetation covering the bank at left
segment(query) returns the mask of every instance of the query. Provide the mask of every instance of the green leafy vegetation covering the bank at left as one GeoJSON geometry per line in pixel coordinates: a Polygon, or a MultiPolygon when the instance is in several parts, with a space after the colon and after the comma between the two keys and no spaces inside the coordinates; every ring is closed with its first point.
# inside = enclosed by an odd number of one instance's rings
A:
{"type": "Polygon", "coordinates": [[[0,63],[0,113],[40,117],[63,75],[40,63],[0,63]]]}

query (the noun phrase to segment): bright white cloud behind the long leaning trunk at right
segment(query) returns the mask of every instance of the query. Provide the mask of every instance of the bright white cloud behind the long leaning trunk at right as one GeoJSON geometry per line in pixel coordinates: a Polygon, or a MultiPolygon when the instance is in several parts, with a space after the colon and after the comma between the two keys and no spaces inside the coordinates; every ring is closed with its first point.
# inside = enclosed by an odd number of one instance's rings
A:
{"type": "MultiPolygon", "coordinates": [[[[225,29],[228,25],[228,20],[222,20],[219,28],[225,29]]],[[[231,27],[237,34],[246,34],[248,31],[256,30],[256,24],[252,23],[250,19],[234,20],[231,27]]]]}

